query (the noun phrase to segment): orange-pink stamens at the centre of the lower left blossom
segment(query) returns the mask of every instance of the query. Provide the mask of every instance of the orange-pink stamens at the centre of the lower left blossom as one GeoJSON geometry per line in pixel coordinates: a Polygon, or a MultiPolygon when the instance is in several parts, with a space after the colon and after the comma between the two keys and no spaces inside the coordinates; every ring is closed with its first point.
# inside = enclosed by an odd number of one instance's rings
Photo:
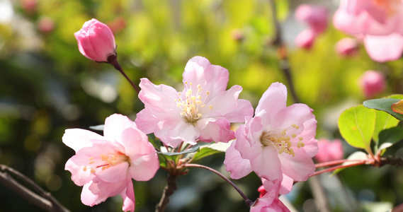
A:
{"type": "Polygon", "coordinates": [[[109,155],[99,155],[96,158],[89,158],[89,166],[85,166],[83,170],[84,172],[86,172],[86,170],[90,170],[90,172],[93,174],[98,168],[101,168],[101,170],[106,170],[108,167],[125,162],[129,163],[130,165],[130,158],[122,152],[109,155]]]}

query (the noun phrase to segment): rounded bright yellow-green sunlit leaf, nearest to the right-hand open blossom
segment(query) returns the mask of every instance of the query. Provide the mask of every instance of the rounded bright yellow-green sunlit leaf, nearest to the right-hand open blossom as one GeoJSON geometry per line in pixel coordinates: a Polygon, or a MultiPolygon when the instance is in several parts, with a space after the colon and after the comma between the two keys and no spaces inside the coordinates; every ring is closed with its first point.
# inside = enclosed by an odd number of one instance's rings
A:
{"type": "Polygon", "coordinates": [[[339,117],[339,129],[341,136],[351,146],[363,148],[368,153],[370,141],[375,130],[375,110],[370,110],[363,105],[351,107],[341,113],[339,117]]]}

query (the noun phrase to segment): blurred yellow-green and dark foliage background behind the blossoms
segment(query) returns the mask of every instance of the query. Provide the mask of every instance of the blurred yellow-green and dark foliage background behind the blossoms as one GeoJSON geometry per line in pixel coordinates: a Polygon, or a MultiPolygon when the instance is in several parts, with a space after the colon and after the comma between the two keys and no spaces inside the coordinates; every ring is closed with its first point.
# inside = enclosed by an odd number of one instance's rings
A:
{"type": "MultiPolygon", "coordinates": [[[[331,25],[338,1],[329,8],[329,27],[310,50],[293,40],[306,27],[293,12],[309,1],[277,0],[278,20],[288,47],[293,83],[300,101],[314,110],[317,138],[340,138],[339,114],[365,100],[358,79],[369,69],[387,76],[379,97],[403,93],[403,61],[384,64],[369,59],[361,47],[356,57],[341,57],[334,44],[343,33],[331,25]]],[[[113,113],[135,119],[144,107],[137,93],[108,64],[86,59],[73,33],[96,18],[110,26],[118,59],[128,76],[181,86],[188,59],[200,55],[229,70],[229,85],[244,88],[241,98],[256,107],[271,83],[288,86],[280,69],[276,33],[268,0],[0,0],[0,163],[13,167],[51,192],[71,211],[121,211],[120,196],[98,206],[81,204],[81,187],[64,163],[74,151],[64,146],[65,129],[89,129],[113,113]]],[[[289,97],[289,105],[293,100],[289,97]]],[[[345,157],[356,151],[344,145],[345,157]]],[[[397,144],[386,155],[402,156],[397,144]]],[[[225,172],[224,153],[200,161],[225,172]]],[[[135,182],[136,211],[154,211],[167,173],[135,182]]],[[[352,167],[334,177],[317,177],[331,211],[374,211],[403,202],[403,170],[385,166],[352,167]]],[[[250,199],[261,182],[251,174],[234,181],[250,199]]],[[[297,211],[317,211],[312,180],[295,184],[287,196],[297,211]]],[[[0,211],[41,211],[0,184],[0,211]]],[[[178,190],[167,211],[249,211],[241,197],[207,170],[191,168],[178,177],[178,190]]]]}

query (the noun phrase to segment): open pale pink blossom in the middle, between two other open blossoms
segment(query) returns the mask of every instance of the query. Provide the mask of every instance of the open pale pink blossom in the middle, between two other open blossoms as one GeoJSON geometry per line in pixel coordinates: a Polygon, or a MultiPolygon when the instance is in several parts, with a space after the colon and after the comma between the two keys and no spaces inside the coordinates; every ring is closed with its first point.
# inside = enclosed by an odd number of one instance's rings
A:
{"type": "Polygon", "coordinates": [[[154,132],[172,147],[182,141],[194,145],[197,141],[234,139],[230,122],[244,122],[254,110],[249,101],[238,100],[241,86],[225,90],[228,76],[227,69],[210,64],[204,57],[193,57],[183,72],[182,92],[142,78],[139,98],[144,110],[137,114],[137,126],[146,134],[154,132]]]}

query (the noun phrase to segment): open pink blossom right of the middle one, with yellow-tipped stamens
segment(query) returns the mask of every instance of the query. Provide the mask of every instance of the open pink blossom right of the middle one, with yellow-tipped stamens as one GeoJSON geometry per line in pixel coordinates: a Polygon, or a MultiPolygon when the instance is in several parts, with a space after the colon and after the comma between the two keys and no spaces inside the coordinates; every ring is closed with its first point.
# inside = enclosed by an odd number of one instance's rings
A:
{"type": "Polygon", "coordinates": [[[305,181],[313,174],[317,121],[307,105],[287,107],[286,101],[285,86],[271,84],[256,107],[255,117],[246,117],[245,124],[237,129],[237,139],[227,149],[224,161],[232,178],[254,171],[271,181],[305,181]]]}

